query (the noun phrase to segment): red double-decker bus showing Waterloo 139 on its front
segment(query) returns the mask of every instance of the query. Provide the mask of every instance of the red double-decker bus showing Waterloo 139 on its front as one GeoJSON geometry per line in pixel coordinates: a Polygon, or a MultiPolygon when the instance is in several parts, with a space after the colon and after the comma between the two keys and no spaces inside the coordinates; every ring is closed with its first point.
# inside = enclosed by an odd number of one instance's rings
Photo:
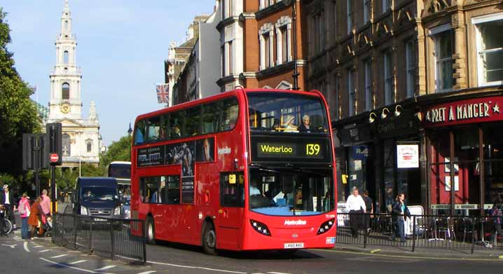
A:
{"type": "Polygon", "coordinates": [[[138,116],[133,219],[216,249],[333,247],[335,158],[318,91],[237,89],[138,116]]]}

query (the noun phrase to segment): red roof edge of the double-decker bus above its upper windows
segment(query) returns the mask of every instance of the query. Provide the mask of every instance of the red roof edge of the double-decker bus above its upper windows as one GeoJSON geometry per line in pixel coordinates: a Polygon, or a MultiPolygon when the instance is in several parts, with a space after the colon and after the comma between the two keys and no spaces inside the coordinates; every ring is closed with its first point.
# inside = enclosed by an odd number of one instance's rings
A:
{"type": "MultiPolygon", "coordinates": [[[[277,90],[277,89],[266,89],[266,88],[237,88],[235,90],[229,90],[226,91],[225,93],[219,93],[216,95],[204,97],[198,100],[193,100],[189,102],[184,102],[181,104],[174,105],[173,107],[170,107],[170,111],[176,111],[179,109],[186,109],[188,107],[193,107],[197,106],[199,104],[204,104],[206,102],[212,102],[214,100],[219,100],[223,99],[226,97],[230,97],[232,95],[236,95],[237,93],[294,93],[294,94],[301,94],[301,95],[310,95],[310,96],[315,96],[315,97],[321,97],[322,93],[320,93],[318,90],[310,90],[310,91],[301,91],[301,90],[277,90]]],[[[146,114],[141,114],[137,116],[135,123],[137,123],[138,120],[141,120],[143,118],[148,118],[151,116],[156,116],[160,114],[164,114],[166,109],[160,109],[157,111],[152,111],[146,114]]]]}

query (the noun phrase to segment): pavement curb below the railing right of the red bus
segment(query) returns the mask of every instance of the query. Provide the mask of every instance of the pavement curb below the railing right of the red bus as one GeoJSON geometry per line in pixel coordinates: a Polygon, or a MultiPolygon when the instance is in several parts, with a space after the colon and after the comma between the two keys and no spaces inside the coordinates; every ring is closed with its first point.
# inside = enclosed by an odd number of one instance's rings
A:
{"type": "Polygon", "coordinates": [[[437,260],[473,260],[473,261],[503,261],[503,250],[495,253],[487,254],[469,254],[460,250],[449,250],[449,252],[434,252],[428,253],[427,250],[422,252],[411,252],[410,250],[390,250],[386,248],[362,249],[358,247],[334,247],[334,252],[345,252],[370,256],[390,256],[413,259],[437,259],[437,260]]]}

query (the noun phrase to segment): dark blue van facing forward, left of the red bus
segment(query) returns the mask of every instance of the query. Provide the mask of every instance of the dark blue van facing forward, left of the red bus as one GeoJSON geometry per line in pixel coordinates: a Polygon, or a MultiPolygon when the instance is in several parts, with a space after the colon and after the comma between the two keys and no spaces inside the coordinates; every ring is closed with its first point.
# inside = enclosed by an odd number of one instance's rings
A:
{"type": "Polygon", "coordinates": [[[92,217],[123,217],[123,203],[115,178],[78,178],[71,203],[76,214],[92,217]]]}

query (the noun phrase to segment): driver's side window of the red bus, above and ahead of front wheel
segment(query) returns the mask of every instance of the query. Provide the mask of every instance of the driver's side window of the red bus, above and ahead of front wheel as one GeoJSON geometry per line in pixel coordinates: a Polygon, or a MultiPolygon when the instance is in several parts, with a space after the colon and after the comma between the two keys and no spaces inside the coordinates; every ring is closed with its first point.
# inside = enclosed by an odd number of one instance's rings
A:
{"type": "Polygon", "coordinates": [[[225,207],[244,206],[243,172],[220,174],[220,205],[225,207]]]}

